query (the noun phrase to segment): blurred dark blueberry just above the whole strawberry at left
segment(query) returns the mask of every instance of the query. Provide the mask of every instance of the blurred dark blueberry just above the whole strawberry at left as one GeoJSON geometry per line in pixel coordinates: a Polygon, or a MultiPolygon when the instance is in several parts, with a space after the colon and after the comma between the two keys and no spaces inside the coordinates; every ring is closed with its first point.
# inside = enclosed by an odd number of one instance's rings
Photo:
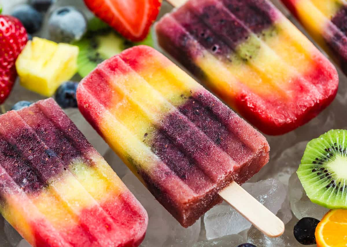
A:
{"type": "Polygon", "coordinates": [[[29,34],[36,33],[41,29],[43,18],[41,13],[28,4],[16,6],[11,15],[22,22],[29,34]]]}

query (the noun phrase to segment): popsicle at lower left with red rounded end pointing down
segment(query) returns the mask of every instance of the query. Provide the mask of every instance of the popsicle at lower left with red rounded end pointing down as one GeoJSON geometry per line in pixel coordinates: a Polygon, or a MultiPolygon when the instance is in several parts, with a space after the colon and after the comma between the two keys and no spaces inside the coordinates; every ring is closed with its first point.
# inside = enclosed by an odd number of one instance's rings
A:
{"type": "Polygon", "coordinates": [[[147,214],[53,99],[0,116],[1,213],[34,247],[138,246],[147,214]]]}

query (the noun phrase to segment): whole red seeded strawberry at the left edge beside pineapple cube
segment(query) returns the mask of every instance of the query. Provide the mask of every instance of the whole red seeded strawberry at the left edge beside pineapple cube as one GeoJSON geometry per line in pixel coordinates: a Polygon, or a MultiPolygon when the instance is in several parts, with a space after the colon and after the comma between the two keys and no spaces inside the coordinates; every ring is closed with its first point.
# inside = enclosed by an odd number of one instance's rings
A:
{"type": "Polygon", "coordinates": [[[26,30],[18,19],[0,15],[0,104],[16,81],[15,62],[27,41],[26,30]]]}

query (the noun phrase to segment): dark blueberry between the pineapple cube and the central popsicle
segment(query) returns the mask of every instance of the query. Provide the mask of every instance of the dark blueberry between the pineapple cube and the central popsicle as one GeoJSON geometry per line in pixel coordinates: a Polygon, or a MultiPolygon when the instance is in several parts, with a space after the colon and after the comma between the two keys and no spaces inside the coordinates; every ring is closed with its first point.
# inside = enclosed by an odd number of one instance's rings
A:
{"type": "Polygon", "coordinates": [[[56,91],[56,101],[62,108],[77,107],[77,82],[65,82],[56,91]]]}

